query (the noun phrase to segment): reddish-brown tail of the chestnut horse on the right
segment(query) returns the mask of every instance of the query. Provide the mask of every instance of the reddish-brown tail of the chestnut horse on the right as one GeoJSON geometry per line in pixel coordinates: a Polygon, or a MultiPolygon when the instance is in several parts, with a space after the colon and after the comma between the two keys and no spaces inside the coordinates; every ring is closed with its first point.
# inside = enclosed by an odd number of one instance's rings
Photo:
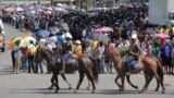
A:
{"type": "Polygon", "coordinates": [[[161,64],[160,60],[157,59],[156,61],[157,61],[157,73],[163,82],[164,73],[163,73],[162,64],[161,64]]]}

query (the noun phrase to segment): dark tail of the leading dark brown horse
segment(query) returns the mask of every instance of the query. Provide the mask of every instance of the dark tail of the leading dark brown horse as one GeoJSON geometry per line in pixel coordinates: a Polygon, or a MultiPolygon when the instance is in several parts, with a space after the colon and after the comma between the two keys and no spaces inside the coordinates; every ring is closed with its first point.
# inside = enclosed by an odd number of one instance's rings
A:
{"type": "Polygon", "coordinates": [[[98,73],[98,68],[97,68],[97,61],[91,57],[89,57],[89,59],[94,62],[92,75],[94,75],[95,82],[98,83],[99,82],[99,73],[98,73]]]}

